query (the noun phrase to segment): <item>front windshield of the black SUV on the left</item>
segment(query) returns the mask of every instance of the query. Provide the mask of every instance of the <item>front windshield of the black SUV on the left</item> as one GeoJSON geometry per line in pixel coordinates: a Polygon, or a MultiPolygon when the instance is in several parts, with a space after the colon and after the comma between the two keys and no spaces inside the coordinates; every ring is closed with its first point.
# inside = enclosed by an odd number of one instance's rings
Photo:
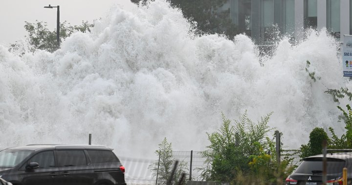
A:
{"type": "Polygon", "coordinates": [[[32,152],[32,150],[1,150],[0,167],[14,167],[15,165],[21,163],[23,159],[26,158],[32,152]]]}

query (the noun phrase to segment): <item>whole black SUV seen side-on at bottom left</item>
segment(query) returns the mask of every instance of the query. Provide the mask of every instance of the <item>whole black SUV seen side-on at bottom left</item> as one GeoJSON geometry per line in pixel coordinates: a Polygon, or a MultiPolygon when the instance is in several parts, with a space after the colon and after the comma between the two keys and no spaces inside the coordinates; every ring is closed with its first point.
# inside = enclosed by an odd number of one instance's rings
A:
{"type": "Polygon", "coordinates": [[[112,149],[97,145],[26,145],[0,151],[0,176],[13,185],[126,185],[112,149]]]}

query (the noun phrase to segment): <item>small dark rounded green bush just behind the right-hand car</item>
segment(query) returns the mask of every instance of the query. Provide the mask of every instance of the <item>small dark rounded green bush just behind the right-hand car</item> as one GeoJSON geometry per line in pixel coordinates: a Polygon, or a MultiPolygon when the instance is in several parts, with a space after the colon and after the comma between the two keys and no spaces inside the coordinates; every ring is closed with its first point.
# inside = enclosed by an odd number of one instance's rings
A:
{"type": "Polygon", "coordinates": [[[301,145],[301,155],[303,159],[308,156],[322,154],[323,150],[323,141],[329,143],[328,134],[324,131],[323,128],[314,128],[309,134],[308,144],[301,145]]]}

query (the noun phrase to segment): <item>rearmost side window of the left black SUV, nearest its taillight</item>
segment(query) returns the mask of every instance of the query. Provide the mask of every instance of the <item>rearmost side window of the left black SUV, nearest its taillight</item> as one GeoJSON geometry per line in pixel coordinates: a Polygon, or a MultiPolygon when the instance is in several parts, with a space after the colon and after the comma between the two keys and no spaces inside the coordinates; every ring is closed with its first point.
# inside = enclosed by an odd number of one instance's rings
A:
{"type": "Polygon", "coordinates": [[[115,154],[110,150],[87,150],[92,163],[119,162],[115,154]]]}

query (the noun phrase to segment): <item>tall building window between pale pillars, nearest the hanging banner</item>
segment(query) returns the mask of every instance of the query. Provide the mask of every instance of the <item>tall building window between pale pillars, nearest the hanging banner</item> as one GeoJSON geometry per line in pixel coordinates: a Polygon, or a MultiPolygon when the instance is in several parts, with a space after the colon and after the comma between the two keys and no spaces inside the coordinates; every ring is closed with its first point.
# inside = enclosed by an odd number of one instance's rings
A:
{"type": "Polygon", "coordinates": [[[340,38],[340,0],[327,0],[327,29],[340,38]]]}

